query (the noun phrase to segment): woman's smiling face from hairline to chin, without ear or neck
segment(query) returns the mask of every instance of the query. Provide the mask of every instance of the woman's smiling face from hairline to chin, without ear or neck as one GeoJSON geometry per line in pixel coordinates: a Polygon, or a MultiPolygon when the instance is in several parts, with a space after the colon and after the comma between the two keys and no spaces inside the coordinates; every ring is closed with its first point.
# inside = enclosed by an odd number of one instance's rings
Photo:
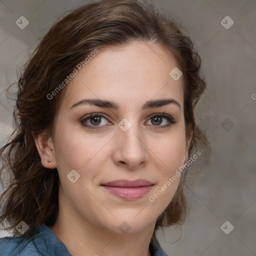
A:
{"type": "Polygon", "coordinates": [[[137,232],[170,203],[180,178],[172,176],[186,158],[182,76],[169,75],[174,67],[160,46],[133,42],[99,49],[66,85],[52,158],[67,217],[137,232]],[[103,185],[115,180],[131,182],[103,185]]]}

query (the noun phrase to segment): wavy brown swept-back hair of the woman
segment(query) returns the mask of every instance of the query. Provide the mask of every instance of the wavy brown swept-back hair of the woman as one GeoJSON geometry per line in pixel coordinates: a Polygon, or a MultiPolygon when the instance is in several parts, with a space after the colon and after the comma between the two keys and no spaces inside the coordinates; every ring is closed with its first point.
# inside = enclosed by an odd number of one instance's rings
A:
{"type": "MultiPolygon", "coordinates": [[[[22,236],[31,236],[34,227],[51,226],[56,221],[58,172],[56,168],[42,166],[31,131],[51,134],[65,87],[50,100],[47,95],[94,49],[141,41],[152,42],[172,53],[183,73],[186,138],[192,130],[188,157],[200,150],[201,161],[196,171],[207,167],[210,148],[193,113],[205,89],[205,80],[200,74],[200,57],[182,29],[168,13],[157,10],[147,0],[90,2],[58,18],[18,76],[13,110],[15,127],[0,149],[0,174],[10,174],[10,182],[0,197],[0,223],[4,230],[12,230],[14,236],[20,235],[15,226],[23,220],[29,229],[22,236]]],[[[183,223],[187,210],[183,186],[190,169],[191,166],[182,172],[174,197],[157,218],[152,238],[158,227],[183,223]]]]}

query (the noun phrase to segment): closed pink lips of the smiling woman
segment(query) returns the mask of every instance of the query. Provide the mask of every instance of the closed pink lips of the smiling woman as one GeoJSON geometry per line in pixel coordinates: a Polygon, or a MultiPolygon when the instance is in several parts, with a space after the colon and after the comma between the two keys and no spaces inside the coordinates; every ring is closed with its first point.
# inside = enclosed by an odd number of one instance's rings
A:
{"type": "Polygon", "coordinates": [[[145,179],[119,179],[102,184],[110,193],[122,199],[137,199],[148,193],[154,184],[145,179]]]}

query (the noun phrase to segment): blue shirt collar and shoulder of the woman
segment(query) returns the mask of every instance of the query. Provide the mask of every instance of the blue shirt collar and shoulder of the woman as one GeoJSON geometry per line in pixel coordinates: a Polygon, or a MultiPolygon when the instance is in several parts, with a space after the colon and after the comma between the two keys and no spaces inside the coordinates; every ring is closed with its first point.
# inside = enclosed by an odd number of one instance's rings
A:
{"type": "MultiPolygon", "coordinates": [[[[168,256],[159,243],[155,242],[154,246],[155,251],[151,256],[168,256]]],[[[71,254],[49,227],[40,225],[28,239],[22,236],[0,238],[0,256],[71,256],[71,254]]]]}

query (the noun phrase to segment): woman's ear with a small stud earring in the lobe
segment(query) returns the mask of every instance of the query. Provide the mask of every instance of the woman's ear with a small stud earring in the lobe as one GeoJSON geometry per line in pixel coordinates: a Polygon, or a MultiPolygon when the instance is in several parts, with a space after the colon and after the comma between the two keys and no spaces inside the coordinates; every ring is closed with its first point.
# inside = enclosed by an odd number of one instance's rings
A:
{"type": "Polygon", "coordinates": [[[32,131],[32,136],[34,138],[37,151],[41,157],[42,166],[50,169],[56,168],[52,137],[47,136],[45,131],[32,131]]]}

